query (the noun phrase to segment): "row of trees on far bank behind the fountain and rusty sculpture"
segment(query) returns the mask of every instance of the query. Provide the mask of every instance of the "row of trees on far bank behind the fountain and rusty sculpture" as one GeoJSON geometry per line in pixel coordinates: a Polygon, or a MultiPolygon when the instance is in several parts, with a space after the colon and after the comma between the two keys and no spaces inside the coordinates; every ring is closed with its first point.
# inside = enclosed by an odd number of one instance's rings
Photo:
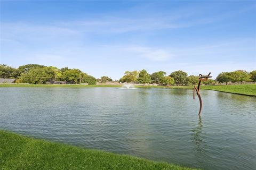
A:
{"type": "MultiPolygon", "coordinates": [[[[149,74],[146,70],[141,71],[126,71],[125,75],[119,80],[120,82],[140,82],[145,85],[145,83],[156,83],[164,86],[176,84],[180,85],[195,85],[199,82],[199,76],[189,75],[184,71],[174,71],[170,75],[166,76],[166,72],[158,71],[152,74],[149,74]]],[[[255,83],[256,81],[256,70],[252,72],[247,72],[244,70],[237,70],[233,72],[222,72],[218,77],[213,79],[208,79],[202,83],[205,85],[214,85],[216,83],[241,83],[251,81],[255,83]]]]}

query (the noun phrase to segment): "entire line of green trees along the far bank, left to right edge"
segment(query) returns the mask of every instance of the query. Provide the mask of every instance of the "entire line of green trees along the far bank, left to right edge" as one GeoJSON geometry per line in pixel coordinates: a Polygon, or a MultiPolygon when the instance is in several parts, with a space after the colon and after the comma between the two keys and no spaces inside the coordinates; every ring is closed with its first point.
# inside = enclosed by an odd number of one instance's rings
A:
{"type": "MultiPolygon", "coordinates": [[[[11,66],[0,64],[0,78],[15,78],[20,83],[31,84],[44,84],[47,81],[69,81],[72,83],[88,83],[96,84],[97,82],[106,83],[113,81],[107,76],[102,76],[100,79],[95,79],[91,75],[82,72],[79,69],[69,69],[63,67],[58,69],[54,66],[44,66],[39,64],[26,64],[19,66],[15,69],[11,66]]],[[[163,86],[169,86],[176,84],[177,86],[183,85],[195,85],[199,81],[199,76],[189,75],[184,71],[174,71],[169,75],[166,75],[164,71],[154,72],[149,74],[146,70],[141,71],[125,71],[124,76],[119,79],[119,82],[127,83],[156,83],[163,86]]],[[[222,72],[215,80],[209,79],[203,81],[203,84],[214,85],[218,82],[226,83],[241,83],[245,81],[256,81],[256,70],[247,72],[244,70],[237,70],[233,72],[222,72]]]]}

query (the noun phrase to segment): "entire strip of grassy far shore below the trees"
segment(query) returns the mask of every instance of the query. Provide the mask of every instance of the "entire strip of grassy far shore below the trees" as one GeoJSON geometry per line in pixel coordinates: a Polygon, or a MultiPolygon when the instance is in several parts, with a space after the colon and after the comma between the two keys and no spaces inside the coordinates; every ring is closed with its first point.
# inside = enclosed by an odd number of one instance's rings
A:
{"type": "MultiPolygon", "coordinates": [[[[122,87],[123,84],[95,84],[95,85],[83,85],[83,84],[0,84],[0,87],[79,87],[79,88],[90,88],[90,87],[122,87]]],[[[136,88],[168,88],[168,89],[193,89],[194,86],[136,86],[136,88]]],[[[202,85],[201,89],[204,90],[215,90],[221,92],[228,92],[231,94],[256,96],[256,84],[239,84],[239,85],[202,85]]]]}

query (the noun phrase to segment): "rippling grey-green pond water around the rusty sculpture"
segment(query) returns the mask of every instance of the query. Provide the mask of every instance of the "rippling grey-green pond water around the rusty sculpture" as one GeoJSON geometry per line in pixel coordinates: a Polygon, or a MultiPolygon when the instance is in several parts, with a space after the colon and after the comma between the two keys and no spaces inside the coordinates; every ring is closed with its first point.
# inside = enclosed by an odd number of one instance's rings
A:
{"type": "Polygon", "coordinates": [[[255,169],[256,98],[187,89],[0,88],[0,129],[203,169],[255,169]]]}

